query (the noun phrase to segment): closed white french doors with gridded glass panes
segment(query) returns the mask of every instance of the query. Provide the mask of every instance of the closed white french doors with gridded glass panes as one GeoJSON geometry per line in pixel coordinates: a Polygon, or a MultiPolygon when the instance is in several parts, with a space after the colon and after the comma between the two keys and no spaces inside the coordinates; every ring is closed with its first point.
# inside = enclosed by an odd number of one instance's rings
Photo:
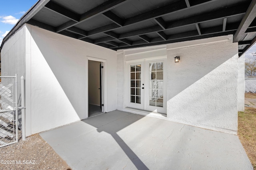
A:
{"type": "Polygon", "coordinates": [[[166,57],[128,61],[127,107],[166,113],[166,57]]]}

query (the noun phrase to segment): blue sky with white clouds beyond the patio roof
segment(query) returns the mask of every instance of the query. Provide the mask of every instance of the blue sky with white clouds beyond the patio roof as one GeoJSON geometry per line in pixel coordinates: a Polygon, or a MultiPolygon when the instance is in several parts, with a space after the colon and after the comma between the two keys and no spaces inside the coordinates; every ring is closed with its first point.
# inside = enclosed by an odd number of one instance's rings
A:
{"type": "MultiPolygon", "coordinates": [[[[14,27],[23,14],[38,0],[0,0],[0,44],[6,34],[14,27]]],[[[253,45],[245,57],[254,60],[252,53],[256,53],[256,45],[253,45]]]]}

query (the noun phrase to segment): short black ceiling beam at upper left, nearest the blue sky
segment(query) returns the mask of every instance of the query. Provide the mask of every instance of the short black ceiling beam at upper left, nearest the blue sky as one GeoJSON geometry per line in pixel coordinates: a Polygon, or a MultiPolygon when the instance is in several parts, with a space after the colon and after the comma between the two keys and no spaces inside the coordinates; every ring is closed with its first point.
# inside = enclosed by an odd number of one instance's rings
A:
{"type": "Polygon", "coordinates": [[[78,22],[79,19],[80,19],[80,16],[62,6],[59,6],[58,4],[55,4],[54,2],[50,1],[48,2],[44,8],[48,9],[48,10],[51,10],[53,12],[56,12],[70,20],[73,20],[73,21],[76,21],[78,22]]]}

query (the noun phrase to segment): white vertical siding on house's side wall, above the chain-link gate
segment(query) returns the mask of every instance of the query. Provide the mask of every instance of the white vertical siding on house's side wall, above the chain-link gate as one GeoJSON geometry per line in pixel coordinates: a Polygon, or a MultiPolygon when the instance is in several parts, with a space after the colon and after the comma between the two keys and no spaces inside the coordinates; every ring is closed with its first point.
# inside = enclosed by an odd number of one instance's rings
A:
{"type": "Polygon", "coordinates": [[[1,51],[1,75],[15,74],[18,74],[18,97],[20,97],[20,77],[25,76],[25,26],[4,43],[1,51]]]}

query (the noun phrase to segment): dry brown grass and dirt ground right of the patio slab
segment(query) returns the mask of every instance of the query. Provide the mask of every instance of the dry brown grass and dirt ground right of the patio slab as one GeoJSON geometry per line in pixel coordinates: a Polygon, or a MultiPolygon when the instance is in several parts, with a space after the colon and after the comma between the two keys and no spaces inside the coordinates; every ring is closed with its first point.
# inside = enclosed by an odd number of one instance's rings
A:
{"type": "MultiPolygon", "coordinates": [[[[256,94],[246,93],[246,98],[256,98],[256,94]]],[[[256,170],[256,108],[245,107],[238,112],[238,137],[256,170]]]]}

